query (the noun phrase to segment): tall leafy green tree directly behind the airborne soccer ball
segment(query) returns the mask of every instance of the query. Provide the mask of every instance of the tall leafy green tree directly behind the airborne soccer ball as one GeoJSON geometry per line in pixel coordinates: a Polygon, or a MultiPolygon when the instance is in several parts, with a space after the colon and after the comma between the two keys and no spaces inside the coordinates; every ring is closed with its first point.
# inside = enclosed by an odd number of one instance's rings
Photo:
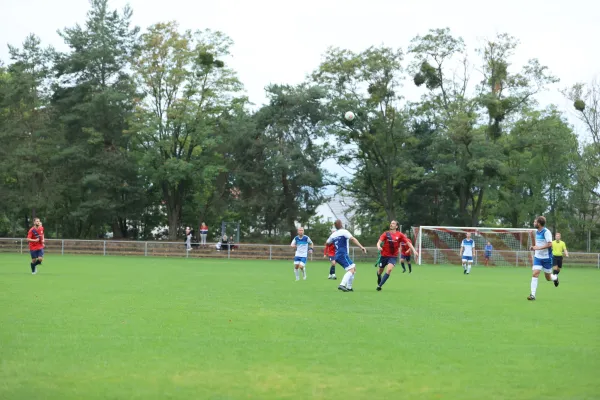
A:
{"type": "Polygon", "coordinates": [[[410,158],[415,140],[401,105],[402,59],[402,50],[388,47],[358,54],[334,48],[313,74],[328,92],[338,162],[354,173],[341,188],[353,193],[361,210],[380,208],[389,220],[400,216],[406,193],[422,172],[410,158]],[[356,119],[345,121],[346,111],[356,119]]]}

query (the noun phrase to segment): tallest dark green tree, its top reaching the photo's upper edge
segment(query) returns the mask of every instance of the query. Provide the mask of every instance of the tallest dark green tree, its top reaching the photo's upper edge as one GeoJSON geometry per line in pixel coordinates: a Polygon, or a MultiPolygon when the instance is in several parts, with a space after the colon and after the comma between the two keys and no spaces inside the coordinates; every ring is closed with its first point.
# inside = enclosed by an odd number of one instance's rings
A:
{"type": "Polygon", "coordinates": [[[70,52],[57,57],[53,104],[68,143],[59,154],[69,182],[60,211],[71,235],[112,228],[115,237],[127,236],[145,206],[126,134],[136,97],[129,71],[138,28],[131,16],[128,7],[119,13],[107,0],[92,0],[84,26],[59,32],[70,52]]]}

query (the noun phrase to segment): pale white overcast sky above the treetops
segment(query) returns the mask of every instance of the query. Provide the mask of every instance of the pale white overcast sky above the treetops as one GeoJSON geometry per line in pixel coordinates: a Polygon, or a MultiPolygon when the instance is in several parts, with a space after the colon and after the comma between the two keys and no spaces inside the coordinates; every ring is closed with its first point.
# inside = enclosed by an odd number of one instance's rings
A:
{"type": "MultiPolygon", "coordinates": [[[[142,29],[176,20],[183,29],[220,30],[235,42],[230,65],[252,102],[261,104],[269,83],[298,83],[313,71],[328,46],[361,51],[384,44],[406,49],[430,28],[449,27],[470,49],[507,32],[520,39],[514,64],[538,58],[561,82],[538,97],[569,110],[558,89],[600,76],[600,2],[597,0],[112,0],[133,8],[142,29]],[[503,8],[500,9],[499,6],[503,8]]],[[[87,0],[0,0],[0,59],[7,43],[29,33],[66,50],[56,30],[85,21],[87,0]]],[[[405,95],[419,90],[407,82],[405,95]]],[[[574,119],[571,119],[574,122],[574,119]]],[[[581,132],[579,132],[581,133],[581,132]]]]}

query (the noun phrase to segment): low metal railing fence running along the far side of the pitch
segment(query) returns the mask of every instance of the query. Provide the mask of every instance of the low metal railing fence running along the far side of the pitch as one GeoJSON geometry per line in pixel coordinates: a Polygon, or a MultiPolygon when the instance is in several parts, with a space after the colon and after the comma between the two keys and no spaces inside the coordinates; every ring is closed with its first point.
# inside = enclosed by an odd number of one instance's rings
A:
{"type": "MultiPolygon", "coordinates": [[[[187,251],[183,242],[136,242],[117,240],[76,240],[46,239],[45,251],[54,254],[87,254],[101,256],[146,256],[146,257],[185,257],[185,258],[224,258],[224,259],[256,259],[256,260],[291,260],[294,250],[289,245],[270,244],[235,244],[217,249],[216,243],[200,246],[193,243],[192,250],[187,251]]],[[[315,246],[311,260],[323,259],[323,246],[315,246]]],[[[0,253],[27,253],[28,243],[21,238],[0,238],[0,253]]],[[[530,251],[496,251],[489,259],[489,266],[529,267],[533,253],[530,251]]],[[[375,263],[378,257],[377,248],[367,247],[367,254],[352,247],[350,256],[356,262],[375,263]]],[[[460,265],[459,250],[422,249],[421,256],[425,264],[460,265]]],[[[593,267],[600,269],[600,254],[569,253],[564,259],[567,266],[593,267]]],[[[474,264],[484,265],[485,252],[475,251],[474,264]]]]}

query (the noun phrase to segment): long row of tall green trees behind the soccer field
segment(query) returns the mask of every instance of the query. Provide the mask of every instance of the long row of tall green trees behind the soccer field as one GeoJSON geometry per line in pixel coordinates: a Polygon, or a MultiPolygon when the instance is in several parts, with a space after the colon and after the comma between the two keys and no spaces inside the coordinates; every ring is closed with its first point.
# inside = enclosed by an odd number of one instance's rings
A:
{"type": "Polygon", "coordinates": [[[370,238],[391,219],[528,227],[539,214],[574,248],[599,237],[600,84],[563,91],[581,139],[536,102],[558,78],[537,59],[515,65],[508,34],[474,57],[449,29],[406,49],[330,48],[256,108],[227,64],[226,34],[142,31],[130,8],[90,3],[83,25],[59,31],[68,51],[32,34],[0,65],[0,235],[39,215],[65,238],[151,239],[167,226],[176,239],[186,225],[235,220],[246,240],[287,241],[296,222],[321,240],[316,208],[334,185],[357,200],[370,238]],[[351,177],[326,170],[331,158],[351,177]]]}

